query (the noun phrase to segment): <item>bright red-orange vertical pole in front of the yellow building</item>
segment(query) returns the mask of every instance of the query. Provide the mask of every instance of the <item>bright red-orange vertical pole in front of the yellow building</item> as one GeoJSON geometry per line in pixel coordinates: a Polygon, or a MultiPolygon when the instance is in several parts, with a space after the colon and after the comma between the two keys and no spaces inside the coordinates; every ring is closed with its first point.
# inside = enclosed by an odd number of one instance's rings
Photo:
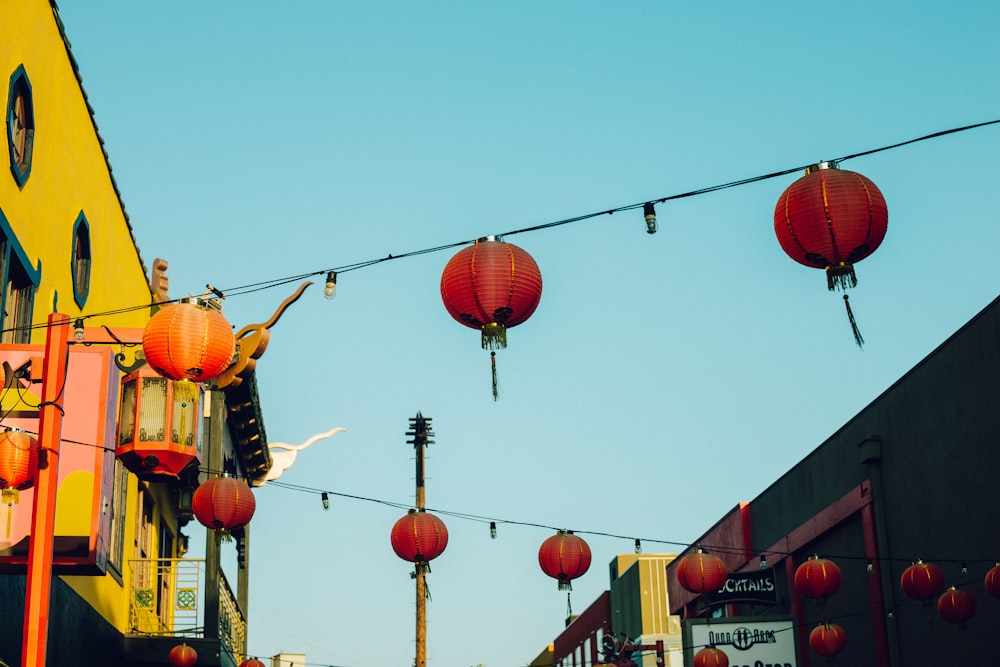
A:
{"type": "Polygon", "coordinates": [[[59,481],[59,441],[66,366],[69,363],[69,316],[49,315],[42,363],[42,403],[38,414],[38,470],[31,508],[28,582],[24,602],[21,667],[45,667],[49,638],[49,597],[52,589],[52,545],[55,540],[56,485],[59,481]]]}

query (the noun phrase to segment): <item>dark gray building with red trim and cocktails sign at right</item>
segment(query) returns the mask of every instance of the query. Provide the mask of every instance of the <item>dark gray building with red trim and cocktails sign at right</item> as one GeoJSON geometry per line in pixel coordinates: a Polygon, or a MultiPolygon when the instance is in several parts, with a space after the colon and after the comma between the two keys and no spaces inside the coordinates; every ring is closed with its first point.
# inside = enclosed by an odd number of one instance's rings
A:
{"type": "MultiPolygon", "coordinates": [[[[707,604],[678,584],[678,559],[667,568],[671,613],[790,617],[799,667],[828,661],[809,648],[809,633],[822,622],[846,631],[840,664],[997,663],[1000,599],[983,582],[1000,561],[998,380],[1000,299],[697,541],[731,573],[759,572],[763,560],[776,604],[707,604]],[[843,575],[824,604],[794,587],[795,569],[816,554],[843,575]],[[948,587],[975,596],[967,623],[946,622],[933,601],[904,594],[900,577],[918,559],[938,565],[948,587]]],[[[730,665],[746,662],[739,649],[721,648],[730,665]]]]}

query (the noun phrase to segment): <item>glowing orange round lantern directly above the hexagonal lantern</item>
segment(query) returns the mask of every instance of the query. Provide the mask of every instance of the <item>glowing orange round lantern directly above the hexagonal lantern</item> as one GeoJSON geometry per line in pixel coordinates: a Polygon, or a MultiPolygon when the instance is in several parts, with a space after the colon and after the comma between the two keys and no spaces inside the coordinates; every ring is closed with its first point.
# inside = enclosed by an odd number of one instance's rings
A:
{"type": "Polygon", "coordinates": [[[236,337],[216,302],[192,298],[163,306],[150,318],[142,350],[163,377],[208,382],[229,367],[236,337]]]}

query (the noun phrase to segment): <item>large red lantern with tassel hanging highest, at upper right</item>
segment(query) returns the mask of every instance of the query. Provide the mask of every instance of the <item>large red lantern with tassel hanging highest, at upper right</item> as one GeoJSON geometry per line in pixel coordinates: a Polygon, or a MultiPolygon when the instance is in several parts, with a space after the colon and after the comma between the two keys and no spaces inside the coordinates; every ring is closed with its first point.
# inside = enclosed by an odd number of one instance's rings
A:
{"type": "MultiPolygon", "coordinates": [[[[792,183],[774,207],[774,233],[785,253],[800,264],[826,271],[827,287],[857,284],[854,264],[885,238],[889,212],[869,179],[832,162],[821,162],[792,183]]],[[[864,341],[844,295],[858,345],[864,341]]]]}

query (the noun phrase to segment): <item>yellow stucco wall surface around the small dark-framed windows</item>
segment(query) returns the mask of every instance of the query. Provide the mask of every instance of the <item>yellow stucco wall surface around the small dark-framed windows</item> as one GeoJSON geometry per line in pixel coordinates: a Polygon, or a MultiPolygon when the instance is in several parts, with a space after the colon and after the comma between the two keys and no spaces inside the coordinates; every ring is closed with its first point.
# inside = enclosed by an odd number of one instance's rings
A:
{"type": "MultiPolygon", "coordinates": [[[[149,304],[147,276],[48,0],[0,2],[0,75],[4,110],[0,211],[32,268],[41,262],[32,322],[45,322],[58,294],[59,312],[71,318],[87,316],[87,327],[143,327],[148,308],[102,315],[149,304]],[[20,66],[31,84],[35,135],[31,172],[19,187],[10,169],[6,119],[10,77],[20,66]],[[73,229],[81,211],[89,223],[91,245],[90,289],[82,309],[74,301],[71,275],[73,229]]],[[[44,329],[37,329],[31,342],[42,343],[44,338],[44,329]]],[[[126,561],[132,555],[136,523],[134,476],[129,483],[126,561]]],[[[57,517],[62,522],[80,520],[57,517]]],[[[159,516],[156,521],[158,525],[159,516]]],[[[124,569],[127,577],[127,565],[124,569]]],[[[128,631],[128,601],[115,577],[64,579],[112,625],[128,631]]]]}

